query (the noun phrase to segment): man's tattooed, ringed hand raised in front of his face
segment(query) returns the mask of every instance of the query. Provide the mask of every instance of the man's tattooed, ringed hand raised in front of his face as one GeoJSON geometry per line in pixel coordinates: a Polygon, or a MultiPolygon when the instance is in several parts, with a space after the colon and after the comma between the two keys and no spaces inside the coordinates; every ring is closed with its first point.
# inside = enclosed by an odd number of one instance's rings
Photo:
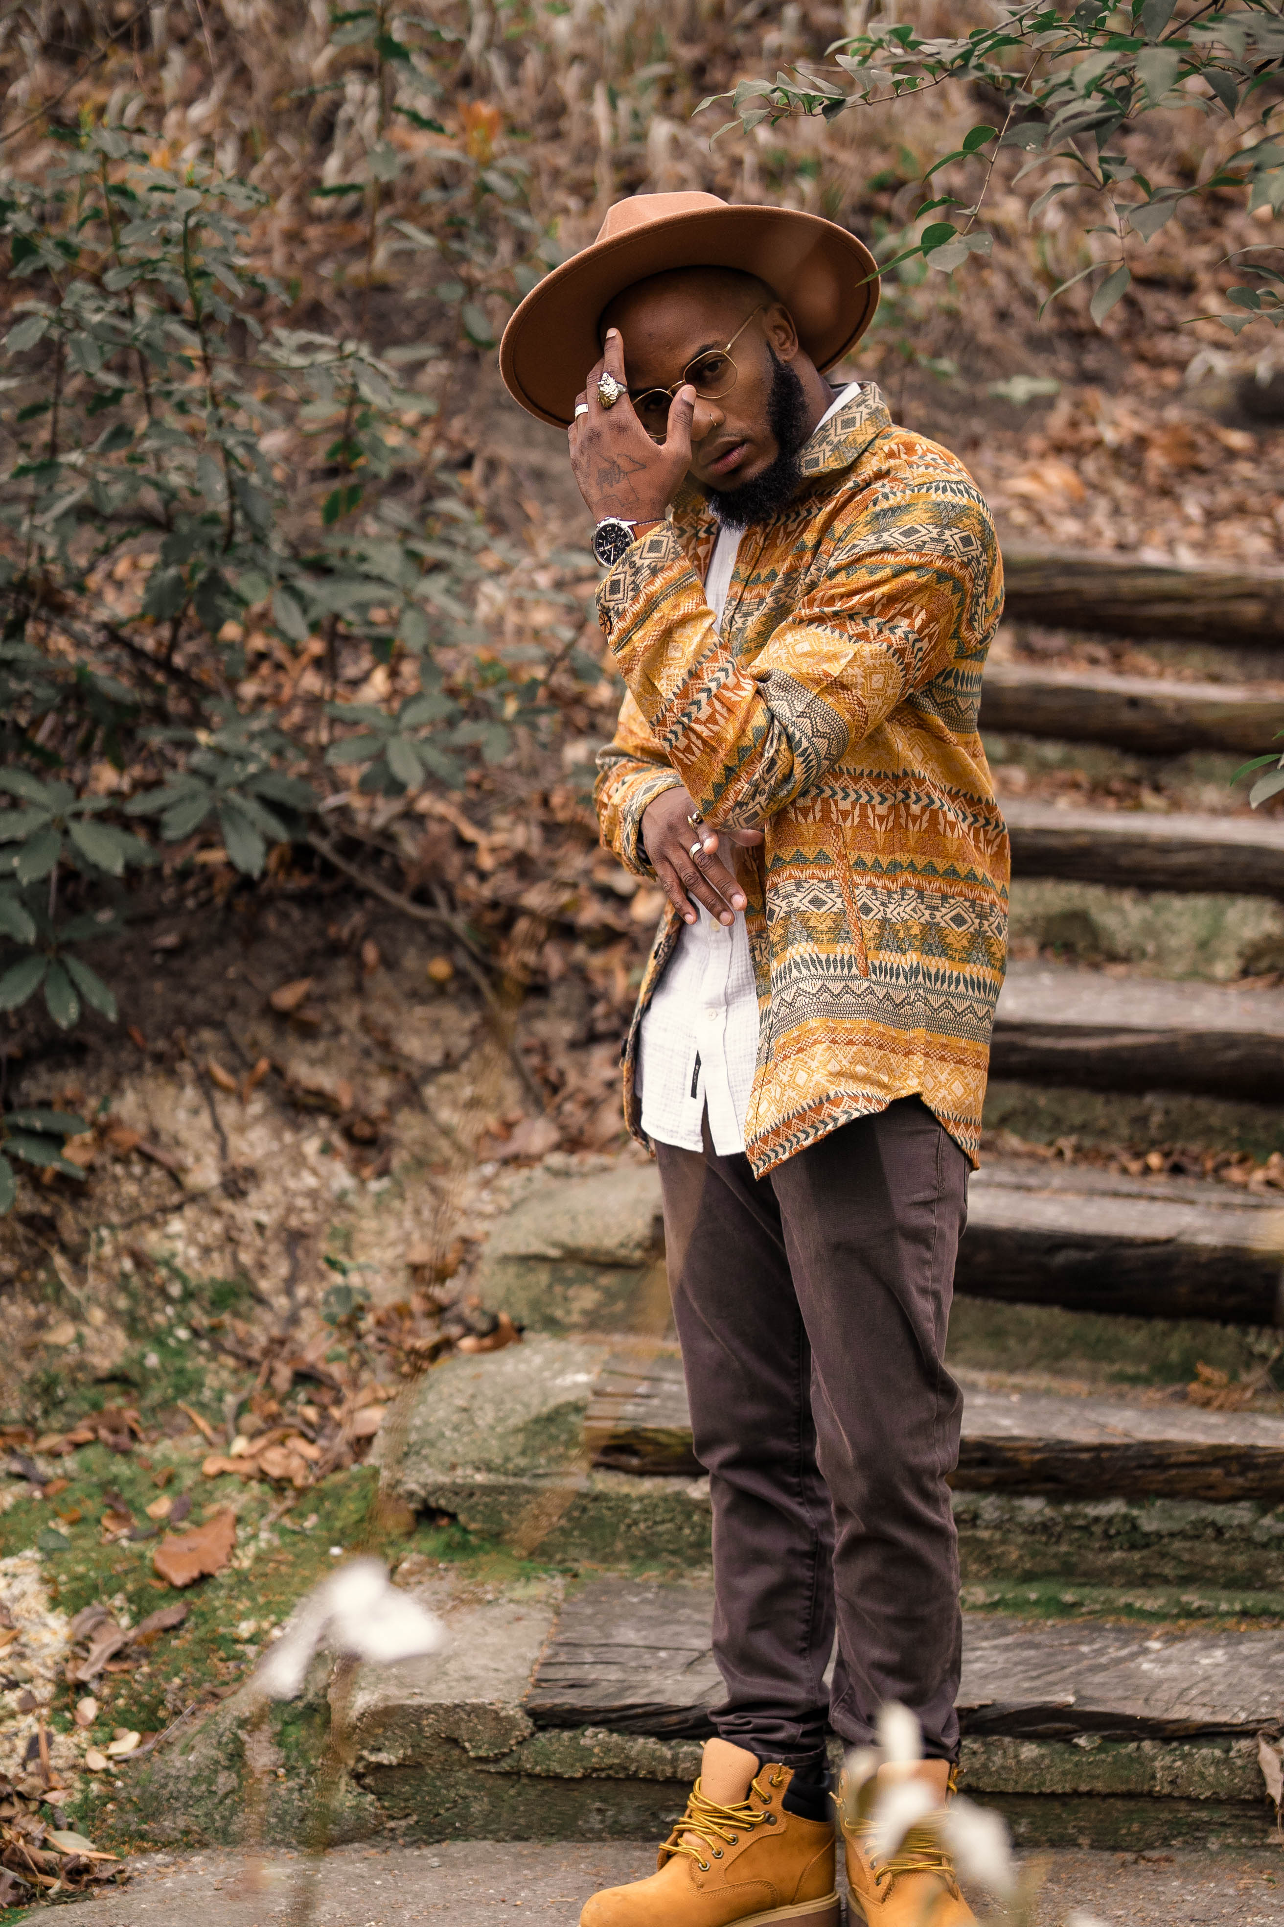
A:
{"type": "Polygon", "coordinates": [[[668,436],[653,441],[628,393],[610,409],[603,407],[597,391],[603,374],[626,387],[624,341],[616,328],[606,331],[606,351],[576,397],[576,407],[587,407],[589,412],[576,414],[568,428],[570,464],[579,493],[595,522],[608,515],[626,522],[660,522],[691,466],[695,389],[678,389],[668,410],[668,436]]]}

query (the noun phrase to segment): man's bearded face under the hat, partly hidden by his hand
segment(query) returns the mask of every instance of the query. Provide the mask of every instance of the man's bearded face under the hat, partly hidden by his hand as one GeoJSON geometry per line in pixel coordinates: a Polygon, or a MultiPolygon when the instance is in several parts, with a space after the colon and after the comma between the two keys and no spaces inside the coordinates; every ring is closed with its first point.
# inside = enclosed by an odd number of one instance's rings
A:
{"type": "Polygon", "coordinates": [[[697,355],[726,349],[743,330],[732,349],[733,387],[716,399],[697,397],[691,422],[687,472],[701,488],[728,495],[757,480],[780,453],[770,424],[772,380],[776,362],[789,364],[799,351],[789,312],[776,303],[753,314],[757,304],[751,289],[674,274],[628,289],[603,318],[624,339],[629,395],[674,387],[697,355]]]}

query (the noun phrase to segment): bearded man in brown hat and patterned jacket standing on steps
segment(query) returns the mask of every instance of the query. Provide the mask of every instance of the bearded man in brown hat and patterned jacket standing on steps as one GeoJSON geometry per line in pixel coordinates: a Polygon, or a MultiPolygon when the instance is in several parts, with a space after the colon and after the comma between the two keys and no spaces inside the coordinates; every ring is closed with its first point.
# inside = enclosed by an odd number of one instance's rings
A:
{"type": "MultiPolygon", "coordinates": [[[[955,457],[824,380],[874,285],[830,222],[639,195],[501,351],[570,428],[608,568],[603,840],[672,904],[626,1112],[660,1166],[726,1682],[660,1871],[583,1927],[835,1927],[826,1723],[868,1744],[905,1703],[941,1800],[957,1757],[943,1349],[1005,960],[976,734],[1001,567],[955,457]]],[[[866,1921],[974,1917],[926,1835],[880,1863],[843,1831],[866,1921]]]]}

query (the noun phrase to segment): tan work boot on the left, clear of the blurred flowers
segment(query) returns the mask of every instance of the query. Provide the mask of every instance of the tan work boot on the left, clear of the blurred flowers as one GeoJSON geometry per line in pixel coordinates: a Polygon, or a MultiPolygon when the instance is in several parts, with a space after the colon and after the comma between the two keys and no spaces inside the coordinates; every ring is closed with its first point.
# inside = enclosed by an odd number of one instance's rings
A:
{"type": "Polygon", "coordinates": [[[834,1827],[785,1813],[791,1767],[708,1740],[658,1873],[593,1894],[579,1927],[839,1927],[834,1827]]]}

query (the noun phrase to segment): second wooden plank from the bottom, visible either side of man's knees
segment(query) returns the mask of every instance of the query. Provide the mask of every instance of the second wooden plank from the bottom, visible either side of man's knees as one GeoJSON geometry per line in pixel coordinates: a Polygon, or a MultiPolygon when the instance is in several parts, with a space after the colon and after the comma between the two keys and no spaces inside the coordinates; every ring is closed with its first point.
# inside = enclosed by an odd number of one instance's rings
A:
{"type": "MultiPolygon", "coordinates": [[[[691,1474],[681,1360],[616,1357],[587,1414],[595,1463],[618,1472],[691,1474]]],[[[1284,1418],[968,1387],[951,1484],[1047,1497],[1284,1499],[1284,1418]]]]}

